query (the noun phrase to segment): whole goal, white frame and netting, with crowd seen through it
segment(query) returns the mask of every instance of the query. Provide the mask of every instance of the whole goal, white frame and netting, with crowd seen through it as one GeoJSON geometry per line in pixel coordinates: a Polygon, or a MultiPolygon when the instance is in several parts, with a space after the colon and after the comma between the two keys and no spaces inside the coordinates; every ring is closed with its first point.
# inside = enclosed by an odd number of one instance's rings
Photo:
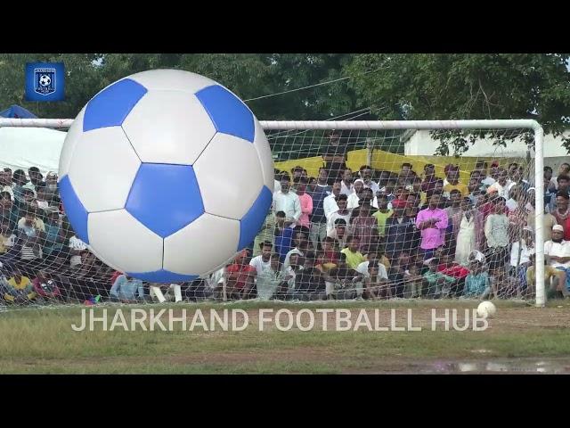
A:
{"type": "MultiPolygon", "coordinates": [[[[0,119],[0,127],[70,123],[0,119]]],[[[107,267],[69,225],[57,170],[4,161],[0,303],[456,298],[542,306],[566,294],[565,264],[545,268],[544,243],[549,251],[566,235],[568,177],[558,165],[554,177],[544,169],[536,122],[262,126],[275,168],[272,210],[247,251],[191,283],[149,284],[107,267]]]]}

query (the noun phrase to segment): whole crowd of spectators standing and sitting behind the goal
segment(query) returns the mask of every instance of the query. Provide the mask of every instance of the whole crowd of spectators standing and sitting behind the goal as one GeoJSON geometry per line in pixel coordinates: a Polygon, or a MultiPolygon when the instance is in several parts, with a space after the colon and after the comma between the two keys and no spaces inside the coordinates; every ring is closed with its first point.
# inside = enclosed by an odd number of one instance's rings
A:
{"type": "MultiPolygon", "coordinates": [[[[275,171],[248,249],[191,283],[148,284],[107,267],[69,226],[57,174],[0,171],[0,304],[115,300],[532,298],[534,186],[516,162],[399,172],[346,168],[331,135],[317,177],[275,171]],[[166,294],[165,294],[166,292],[166,294]]],[[[570,165],[544,168],[545,287],[570,290],[570,165]]]]}

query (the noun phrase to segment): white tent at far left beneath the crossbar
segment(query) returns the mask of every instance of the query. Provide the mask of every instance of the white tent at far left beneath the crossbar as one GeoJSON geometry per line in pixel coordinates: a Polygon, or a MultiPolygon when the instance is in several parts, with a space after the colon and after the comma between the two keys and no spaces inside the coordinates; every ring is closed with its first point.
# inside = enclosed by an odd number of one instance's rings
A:
{"type": "Polygon", "coordinates": [[[48,128],[0,128],[0,167],[37,167],[45,175],[57,172],[66,132],[48,128]]]}

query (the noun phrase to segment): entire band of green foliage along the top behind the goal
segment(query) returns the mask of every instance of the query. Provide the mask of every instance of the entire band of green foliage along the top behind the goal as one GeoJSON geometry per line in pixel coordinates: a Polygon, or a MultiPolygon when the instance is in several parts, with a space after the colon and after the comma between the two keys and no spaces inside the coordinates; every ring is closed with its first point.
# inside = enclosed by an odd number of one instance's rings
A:
{"type": "MultiPolygon", "coordinates": [[[[2,53],[0,108],[18,103],[42,118],[73,118],[118,78],[175,68],[228,86],[259,119],[322,120],[366,109],[358,119],[532,118],[558,136],[570,120],[569,60],[568,53],[2,53]],[[65,102],[24,101],[25,63],[37,61],[65,63],[65,102]],[[297,90],[305,86],[312,87],[297,90]],[[280,95],[265,96],[273,94],[280,95]]],[[[445,137],[444,151],[470,144],[445,137]]]]}

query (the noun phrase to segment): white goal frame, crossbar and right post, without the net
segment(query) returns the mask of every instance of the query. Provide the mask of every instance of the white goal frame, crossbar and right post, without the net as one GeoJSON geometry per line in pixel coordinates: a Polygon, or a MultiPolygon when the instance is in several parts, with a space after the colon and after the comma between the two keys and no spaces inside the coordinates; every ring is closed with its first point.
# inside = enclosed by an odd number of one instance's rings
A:
{"type": "MultiPolygon", "coordinates": [[[[5,119],[0,118],[0,128],[69,128],[74,119],[5,119]]],[[[396,129],[529,129],[534,133],[534,188],[535,190],[535,247],[536,247],[536,299],[535,306],[544,307],[546,294],[544,287],[544,130],[532,119],[496,119],[496,120],[262,120],[265,130],[396,130],[396,129]]]]}

